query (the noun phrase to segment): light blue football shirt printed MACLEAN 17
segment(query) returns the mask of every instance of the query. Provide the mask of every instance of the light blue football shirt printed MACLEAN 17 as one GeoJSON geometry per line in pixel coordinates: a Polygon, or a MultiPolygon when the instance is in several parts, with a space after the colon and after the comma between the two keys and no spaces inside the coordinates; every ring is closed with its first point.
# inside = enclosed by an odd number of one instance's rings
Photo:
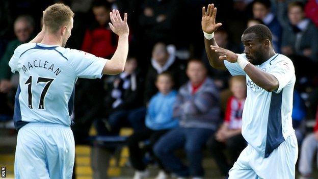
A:
{"type": "MultiPolygon", "coordinates": [[[[77,78],[101,78],[106,59],[80,50],[40,43],[18,46],[9,66],[19,72],[14,124],[28,122],[70,126],[77,78]]],[[[89,95],[89,94],[88,94],[89,95]]]]}

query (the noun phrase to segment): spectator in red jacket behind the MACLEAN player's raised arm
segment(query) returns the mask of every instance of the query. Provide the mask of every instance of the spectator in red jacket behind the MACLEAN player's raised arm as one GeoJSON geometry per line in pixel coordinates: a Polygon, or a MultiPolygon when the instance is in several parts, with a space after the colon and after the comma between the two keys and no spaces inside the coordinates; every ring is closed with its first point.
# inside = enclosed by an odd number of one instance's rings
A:
{"type": "Polygon", "coordinates": [[[97,0],[92,5],[95,21],[86,30],[82,50],[102,58],[110,58],[115,50],[117,39],[109,28],[111,5],[97,0]]]}

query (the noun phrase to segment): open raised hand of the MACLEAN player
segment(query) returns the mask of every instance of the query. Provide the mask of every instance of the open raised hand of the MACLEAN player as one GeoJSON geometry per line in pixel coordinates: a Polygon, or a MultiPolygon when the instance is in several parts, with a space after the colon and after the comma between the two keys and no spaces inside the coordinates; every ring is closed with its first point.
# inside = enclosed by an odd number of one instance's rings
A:
{"type": "Polygon", "coordinates": [[[121,19],[118,10],[113,9],[113,11],[110,12],[110,16],[112,21],[112,23],[109,22],[111,30],[118,36],[128,35],[129,28],[127,24],[127,13],[124,15],[124,20],[121,19]]]}

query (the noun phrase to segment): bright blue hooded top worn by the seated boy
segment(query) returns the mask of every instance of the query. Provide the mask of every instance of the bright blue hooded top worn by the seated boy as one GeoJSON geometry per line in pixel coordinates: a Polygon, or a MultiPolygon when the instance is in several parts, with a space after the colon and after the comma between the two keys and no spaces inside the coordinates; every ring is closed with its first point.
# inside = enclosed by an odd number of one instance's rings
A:
{"type": "Polygon", "coordinates": [[[177,91],[164,95],[158,92],[150,99],[146,115],[146,126],[151,130],[166,130],[178,126],[178,119],[173,118],[173,106],[177,91]]]}

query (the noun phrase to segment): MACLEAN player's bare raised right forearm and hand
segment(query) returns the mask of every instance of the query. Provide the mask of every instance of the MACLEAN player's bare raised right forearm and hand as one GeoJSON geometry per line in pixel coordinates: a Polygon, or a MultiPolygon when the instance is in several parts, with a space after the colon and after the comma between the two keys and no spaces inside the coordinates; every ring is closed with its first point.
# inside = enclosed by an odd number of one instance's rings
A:
{"type": "Polygon", "coordinates": [[[118,45],[115,54],[104,66],[102,72],[103,74],[118,74],[124,70],[128,55],[129,28],[127,24],[127,13],[124,15],[124,20],[121,19],[118,10],[110,12],[110,16],[112,23],[109,23],[109,25],[111,30],[119,36],[118,45]]]}

